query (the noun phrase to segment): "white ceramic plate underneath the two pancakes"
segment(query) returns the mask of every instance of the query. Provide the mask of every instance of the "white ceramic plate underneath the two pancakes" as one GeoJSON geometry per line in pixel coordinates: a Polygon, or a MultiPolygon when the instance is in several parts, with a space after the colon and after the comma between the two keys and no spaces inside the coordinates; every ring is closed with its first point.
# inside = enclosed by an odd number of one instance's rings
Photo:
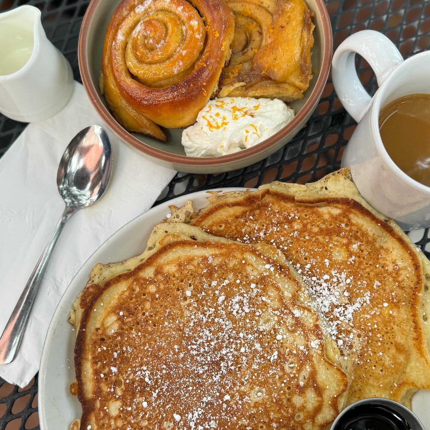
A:
{"type": "MultiPolygon", "coordinates": [[[[224,188],[224,191],[244,188],[224,188]]],[[[39,372],[39,418],[41,430],[67,430],[82,415],[76,396],[69,393],[75,378],[74,344],[76,332],[68,323],[69,310],[83,290],[92,267],[97,263],[121,261],[140,254],[146,247],[152,227],[170,213],[169,205],[182,206],[188,199],[195,208],[206,206],[206,191],[177,197],[143,213],[114,233],[86,261],[74,277],[52,317],[43,347],[39,372]]],[[[430,430],[430,390],[420,390],[413,399],[413,410],[430,430]]]]}

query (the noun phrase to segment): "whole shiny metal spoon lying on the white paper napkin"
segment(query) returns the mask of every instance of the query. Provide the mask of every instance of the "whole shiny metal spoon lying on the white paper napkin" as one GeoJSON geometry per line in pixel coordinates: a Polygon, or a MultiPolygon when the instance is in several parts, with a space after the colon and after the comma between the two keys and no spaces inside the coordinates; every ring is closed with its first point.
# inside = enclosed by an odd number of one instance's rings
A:
{"type": "Polygon", "coordinates": [[[101,198],[111,172],[112,147],[106,132],[100,126],[80,131],[64,151],[58,167],[58,191],[66,207],[0,338],[0,364],[10,363],[18,352],[43,273],[64,224],[78,209],[101,198]]]}

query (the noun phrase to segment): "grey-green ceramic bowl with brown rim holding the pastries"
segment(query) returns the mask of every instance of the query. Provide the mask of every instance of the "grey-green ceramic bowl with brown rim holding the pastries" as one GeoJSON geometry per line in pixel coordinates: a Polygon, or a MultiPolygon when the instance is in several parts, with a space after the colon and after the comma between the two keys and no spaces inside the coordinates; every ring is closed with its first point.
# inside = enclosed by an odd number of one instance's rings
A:
{"type": "Polygon", "coordinates": [[[187,157],[181,145],[182,129],[166,130],[168,142],[127,132],[112,116],[99,89],[104,34],[120,0],[92,0],[83,18],[79,37],[78,57],[80,73],[86,92],[107,126],[124,142],[161,166],[190,173],[218,173],[240,169],[257,163],[288,143],[306,124],[315,110],[329,76],[332,58],[332,28],[323,0],[306,0],[315,12],[315,43],[312,68],[316,70],[304,98],[290,103],[296,115],[283,129],[254,147],[220,157],[187,157]]]}

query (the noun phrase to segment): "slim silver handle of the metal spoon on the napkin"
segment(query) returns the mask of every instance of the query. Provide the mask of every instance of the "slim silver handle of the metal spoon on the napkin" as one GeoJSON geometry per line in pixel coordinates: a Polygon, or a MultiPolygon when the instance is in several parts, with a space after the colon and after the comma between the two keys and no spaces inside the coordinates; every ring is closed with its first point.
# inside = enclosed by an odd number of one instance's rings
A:
{"type": "Polygon", "coordinates": [[[0,338],[0,364],[9,364],[18,352],[22,335],[24,334],[25,326],[27,325],[28,316],[30,315],[30,310],[33,306],[34,299],[36,298],[40,282],[42,281],[43,273],[45,273],[46,266],[51,258],[52,250],[55,247],[55,243],[57,243],[64,224],[66,224],[66,221],[76,210],[76,207],[66,206],[63,215],[61,215],[60,221],[58,221],[54,232],[49,238],[48,243],[39,258],[39,261],[37,261],[36,267],[34,267],[33,273],[31,273],[31,276],[28,279],[27,285],[25,286],[24,291],[22,292],[0,338]]]}

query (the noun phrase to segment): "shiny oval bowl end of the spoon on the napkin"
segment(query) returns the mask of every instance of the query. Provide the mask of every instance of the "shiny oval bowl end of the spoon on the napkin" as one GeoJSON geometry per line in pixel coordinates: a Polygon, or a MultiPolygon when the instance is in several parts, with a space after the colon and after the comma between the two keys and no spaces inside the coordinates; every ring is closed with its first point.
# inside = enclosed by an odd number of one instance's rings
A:
{"type": "Polygon", "coordinates": [[[100,126],[81,130],[70,142],[57,173],[58,191],[66,206],[87,207],[106,190],[112,172],[112,147],[100,126]]]}

